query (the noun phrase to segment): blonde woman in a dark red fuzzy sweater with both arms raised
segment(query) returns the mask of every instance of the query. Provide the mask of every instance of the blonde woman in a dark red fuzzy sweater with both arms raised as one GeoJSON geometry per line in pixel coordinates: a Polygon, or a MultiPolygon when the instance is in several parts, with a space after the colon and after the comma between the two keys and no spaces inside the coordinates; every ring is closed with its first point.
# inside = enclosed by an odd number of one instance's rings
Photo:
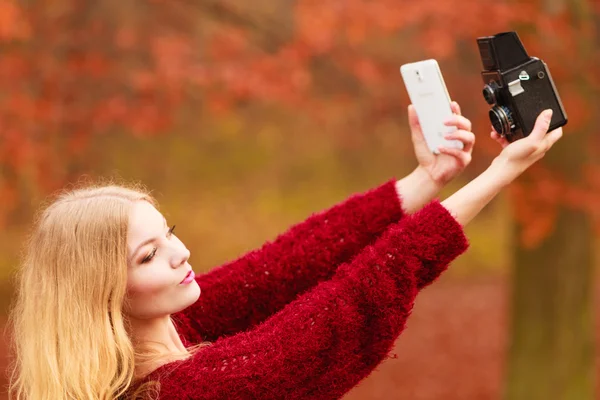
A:
{"type": "Polygon", "coordinates": [[[411,109],[413,174],[197,278],[146,193],[63,194],[41,215],[20,270],[12,396],[340,398],[386,357],[419,290],[465,251],[463,226],[562,135],[546,135],[547,114],[508,146],[492,133],[504,149],[491,166],[431,201],[474,142],[453,107],[462,151],[430,156],[411,109]]]}

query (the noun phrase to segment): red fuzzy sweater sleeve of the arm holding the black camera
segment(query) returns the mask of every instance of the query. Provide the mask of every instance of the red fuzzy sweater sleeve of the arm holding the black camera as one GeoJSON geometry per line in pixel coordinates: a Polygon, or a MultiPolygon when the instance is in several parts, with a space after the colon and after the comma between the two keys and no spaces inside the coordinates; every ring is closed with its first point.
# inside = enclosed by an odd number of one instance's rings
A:
{"type": "Polygon", "coordinates": [[[421,268],[448,264],[466,248],[462,227],[430,203],[262,324],[149,379],[160,380],[161,399],[338,399],[387,356],[421,268]]]}

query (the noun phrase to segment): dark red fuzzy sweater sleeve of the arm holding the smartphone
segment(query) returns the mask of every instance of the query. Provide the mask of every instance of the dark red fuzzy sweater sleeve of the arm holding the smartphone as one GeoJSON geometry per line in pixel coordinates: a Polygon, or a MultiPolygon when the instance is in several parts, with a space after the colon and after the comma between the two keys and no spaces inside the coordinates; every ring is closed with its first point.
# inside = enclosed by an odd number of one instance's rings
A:
{"type": "Polygon", "coordinates": [[[214,341],[255,326],[331,278],[337,266],[403,216],[393,180],[354,195],[196,278],[202,295],[175,321],[195,328],[190,341],[214,341]]]}

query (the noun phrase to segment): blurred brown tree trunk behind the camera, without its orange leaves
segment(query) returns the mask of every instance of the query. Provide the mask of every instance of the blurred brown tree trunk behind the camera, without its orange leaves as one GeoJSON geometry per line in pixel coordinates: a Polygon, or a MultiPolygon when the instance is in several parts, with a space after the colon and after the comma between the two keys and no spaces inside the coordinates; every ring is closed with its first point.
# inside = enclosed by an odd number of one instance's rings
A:
{"type": "MultiPolygon", "coordinates": [[[[578,22],[593,18],[587,0],[547,0],[545,6],[547,12],[567,7],[578,22]]],[[[594,51],[588,39],[582,38],[579,45],[582,57],[594,51]]],[[[574,84],[582,88],[582,96],[593,100],[594,94],[585,86],[586,76],[578,75],[581,81],[574,84]]],[[[590,129],[569,132],[543,161],[566,176],[569,184],[582,183],[590,129]]],[[[505,398],[592,400],[595,377],[590,218],[583,210],[560,206],[553,232],[535,249],[522,247],[519,226],[513,233],[515,270],[505,398]]]]}

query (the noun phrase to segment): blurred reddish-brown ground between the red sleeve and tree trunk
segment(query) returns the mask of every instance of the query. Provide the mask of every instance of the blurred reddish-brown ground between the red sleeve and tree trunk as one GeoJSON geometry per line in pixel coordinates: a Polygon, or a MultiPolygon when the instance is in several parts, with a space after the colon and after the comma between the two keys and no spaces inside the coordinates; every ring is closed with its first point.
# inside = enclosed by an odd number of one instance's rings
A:
{"type": "MultiPolygon", "coordinates": [[[[595,297],[600,377],[600,285],[595,297]]],[[[442,279],[423,291],[393,351],[344,400],[500,399],[508,287],[503,279],[442,279]]],[[[6,351],[0,353],[6,365],[6,351]]],[[[0,382],[4,388],[6,381],[0,382]]],[[[600,379],[597,380],[600,399],[600,379]]],[[[5,390],[0,400],[7,399],[5,390]]]]}

